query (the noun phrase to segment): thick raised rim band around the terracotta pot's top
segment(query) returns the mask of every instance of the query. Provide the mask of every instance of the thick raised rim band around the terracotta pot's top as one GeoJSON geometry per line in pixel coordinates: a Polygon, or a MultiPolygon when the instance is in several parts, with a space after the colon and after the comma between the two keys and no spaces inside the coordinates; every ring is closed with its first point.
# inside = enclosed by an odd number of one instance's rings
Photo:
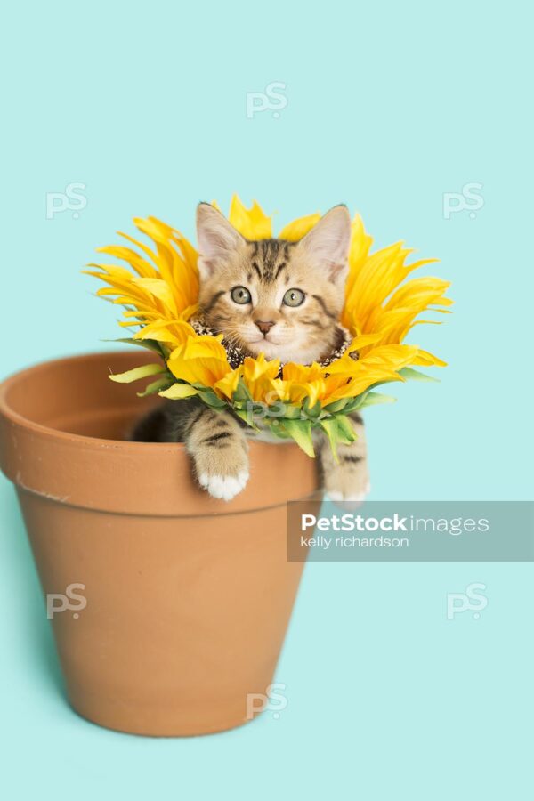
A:
{"type": "MultiPolygon", "coordinates": [[[[273,446],[251,441],[250,480],[245,490],[227,502],[208,496],[198,486],[183,443],[133,442],[62,431],[32,420],[31,404],[18,406],[19,390],[38,392],[41,376],[48,371],[56,370],[62,379],[61,374],[69,374],[71,365],[85,363],[91,373],[87,381],[93,382],[98,375],[98,381],[107,382],[102,369],[113,365],[122,372],[134,367],[138,358],[133,349],[81,353],[39,362],[0,384],[0,469],[20,491],[101,512],[197,517],[261,511],[308,498],[319,489],[314,460],[294,442],[282,441],[273,446]]],[[[85,380],[83,374],[81,378],[78,374],[78,380],[85,380]]],[[[122,393],[116,395],[111,382],[109,388],[104,405],[134,416],[137,399],[131,391],[125,393],[123,386],[122,393]],[[111,400],[115,397],[121,399],[117,405],[111,400]]],[[[55,422],[53,417],[47,419],[55,422]]]]}

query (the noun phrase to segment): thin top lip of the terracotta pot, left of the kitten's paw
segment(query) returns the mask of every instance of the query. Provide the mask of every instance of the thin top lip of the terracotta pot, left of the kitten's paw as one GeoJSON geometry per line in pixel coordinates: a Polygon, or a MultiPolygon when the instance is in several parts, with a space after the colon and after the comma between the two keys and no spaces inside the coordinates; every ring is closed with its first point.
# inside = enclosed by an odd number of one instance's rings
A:
{"type": "MultiPolygon", "coordinates": [[[[125,352],[127,351],[118,349],[115,351],[117,354],[125,352]]],[[[102,442],[109,442],[109,446],[113,447],[114,450],[143,450],[145,453],[148,450],[152,452],[162,452],[168,450],[169,448],[172,448],[173,450],[184,450],[185,446],[182,442],[134,442],[130,440],[109,440],[107,438],[103,439],[101,437],[89,437],[85,434],[61,431],[58,428],[53,428],[51,425],[36,423],[34,420],[30,420],[29,417],[20,415],[19,412],[12,409],[7,401],[7,395],[12,386],[17,384],[20,380],[23,380],[26,376],[28,376],[29,373],[31,373],[33,376],[36,376],[41,370],[44,371],[50,369],[54,365],[69,364],[69,362],[79,361],[80,358],[86,360],[98,360],[101,359],[105,353],[106,351],[95,351],[91,353],[78,353],[72,356],[61,356],[58,359],[47,359],[44,361],[38,361],[35,365],[30,365],[28,368],[19,370],[16,373],[12,373],[10,376],[7,376],[2,382],[0,382],[0,415],[10,420],[15,425],[28,428],[36,433],[44,434],[46,436],[53,437],[54,439],[63,441],[79,441],[80,444],[84,443],[85,447],[93,444],[93,447],[98,447],[100,449],[102,442]]]]}

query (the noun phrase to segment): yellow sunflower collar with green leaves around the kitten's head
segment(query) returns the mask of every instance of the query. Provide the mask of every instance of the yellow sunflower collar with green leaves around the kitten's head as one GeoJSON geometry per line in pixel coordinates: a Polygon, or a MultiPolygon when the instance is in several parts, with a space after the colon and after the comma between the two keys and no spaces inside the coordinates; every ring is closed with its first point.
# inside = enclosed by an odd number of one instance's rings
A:
{"type": "MultiPolygon", "coordinates": [[[[216,205],[216,204],[214,204],[216,205]]],[[[230,223],[247,239],[272,237],[271,217],[256,202],[246,208],[237,196],[231,200],[230,223]]],[[[279,232],[279,238],[301,239],[320,220],[309,214],[279,232]]],[[[352,223],[349,275],[341,322],[352,343],[328,364],[285,364],[247,357],[231,368],[223,335],[198,334],[190,318],[198,309],[198,252],[179,231],[155,217],[134,219],[144,242],[119,232],[127,243],[101,247],[99,252],[128,265],[91,264],[88,274],[107,286],[98,290],[125,307],[124,328],[136,328],[122,342],[140,344],[158,352],[161,364],[150,363],[118,376],[131,382],[155,376],[141,394],[158,392],[173,400],[198,395],[214,409],[231,409],[247,425],[267,425],[282,438],[292,438],[311,456],[312,431],[328,434],[332,448],[353,441],[348,415],[372,403],[394,400],[374,392],[379,384],[426,378],[414,366],[443,367],[445,362],[416,345],[406,344],[421,312],[449,312],[445,297],[449,282],[437,278],[409,278],[435,259],[407,263],[412,253],[402,243],[371,254],[373,240],[359,215],[352,223]],[[134,247],[130,247],[133,245],[134,247]],[[135,249],[134,249],[135,248],[135,249]],[[351,353],[357,351],[354,360],[351,353]]],[[[430,379],[433,380],[433,379],[430,379]]]]}

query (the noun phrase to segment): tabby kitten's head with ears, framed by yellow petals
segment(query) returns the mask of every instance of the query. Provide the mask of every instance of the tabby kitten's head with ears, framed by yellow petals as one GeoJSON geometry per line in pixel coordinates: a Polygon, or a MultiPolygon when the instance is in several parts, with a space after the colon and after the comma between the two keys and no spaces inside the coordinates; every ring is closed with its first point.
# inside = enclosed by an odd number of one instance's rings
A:
{"type": "Polygon", "coordinates": [[[210,328],[267,359],[306,364],[329,352],[344,304],[346,206],[335,206],[298,242],[249,242],[206,203],[198,206],[197,229],[199,305],[210,328]]]}

